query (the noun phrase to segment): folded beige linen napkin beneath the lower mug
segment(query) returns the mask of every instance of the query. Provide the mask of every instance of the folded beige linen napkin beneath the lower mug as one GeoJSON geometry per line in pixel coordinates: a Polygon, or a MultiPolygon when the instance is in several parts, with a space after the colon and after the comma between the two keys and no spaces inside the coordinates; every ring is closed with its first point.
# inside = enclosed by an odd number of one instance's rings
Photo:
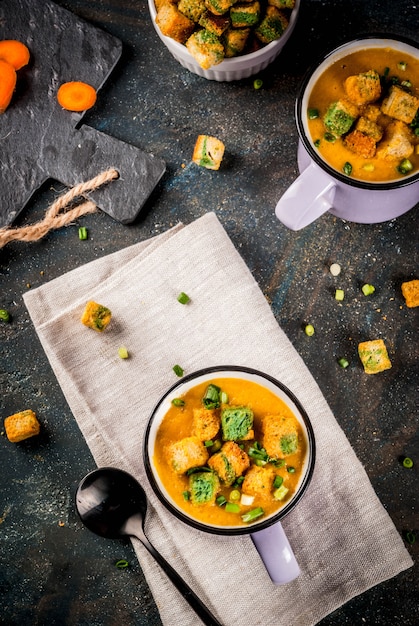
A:
{"type": "MultiPolygon", "coordinates": [[[[412,565],[317,384],[214,214],[88,263],[24,299],[96,463],[142,483],[151,501],[151,542],[225,626],[312,625],[412,565]],[[181,291],[191,297],[188,305],[177,302],[181,291]],[[80,323],[90,299],[112,310],[104,333],[80,323]],[[127,360],[118,357],[121,345],[127,360]],[[142,462],[144,427],[178,380],[176,363],[185,373],[226,364],[262,370],[306,408],[317,460],[305,496],[283,521],[301,568],[292,583],[271,583],[248,536],[189,528],[153,495],[142,462]]],[[[196,626],[195,613],[133,544],[163,623],[196,626]]]]}

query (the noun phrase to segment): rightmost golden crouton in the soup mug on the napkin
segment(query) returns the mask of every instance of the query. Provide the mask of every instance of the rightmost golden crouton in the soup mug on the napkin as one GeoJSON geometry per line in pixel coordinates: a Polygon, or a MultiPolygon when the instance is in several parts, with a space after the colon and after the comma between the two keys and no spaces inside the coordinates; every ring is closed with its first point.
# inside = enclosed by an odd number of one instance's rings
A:
{"type": "Polygon", "coordinates": [[[262,445],[270,457],[282,459],[300,445],[298,421],[293,416],[266,415],[262,419],[262,445]]]}

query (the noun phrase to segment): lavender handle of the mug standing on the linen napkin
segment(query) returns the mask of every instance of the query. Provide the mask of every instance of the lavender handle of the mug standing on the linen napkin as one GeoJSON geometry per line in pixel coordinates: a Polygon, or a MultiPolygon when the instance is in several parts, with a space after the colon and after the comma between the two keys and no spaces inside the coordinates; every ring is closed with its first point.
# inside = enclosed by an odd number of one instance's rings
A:
{"type": "Polygon", "coordinates": [[[300,568],[281,522],[250,535],[275,585],[289,583],[300,575],[300,568]]]}

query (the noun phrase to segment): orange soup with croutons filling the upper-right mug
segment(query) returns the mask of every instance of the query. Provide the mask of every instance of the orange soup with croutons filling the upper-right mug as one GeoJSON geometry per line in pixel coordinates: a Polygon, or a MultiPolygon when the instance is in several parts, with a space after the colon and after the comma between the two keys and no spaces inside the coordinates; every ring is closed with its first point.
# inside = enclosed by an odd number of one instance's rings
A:
{"type": "Polygon", "coordinates": [[[368,48],[335,61],[318,78],[308,99],[307,125],[333,168],[352,178],[388,182],[419,170],[418,107],[419,59],[368,48]],[[334,125],[342,120],[349,122],[334,125]]]}

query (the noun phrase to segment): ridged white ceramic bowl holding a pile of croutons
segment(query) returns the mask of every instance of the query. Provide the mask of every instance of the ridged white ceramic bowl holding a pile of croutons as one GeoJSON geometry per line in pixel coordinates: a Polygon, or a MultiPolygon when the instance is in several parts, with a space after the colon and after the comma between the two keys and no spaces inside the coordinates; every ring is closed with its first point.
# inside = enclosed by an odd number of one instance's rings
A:
{"type": "Polygon", "coordinates": [[[295,7],[290,16],[288,28],[280,39],[272,41],[272,43],[268,44],[264,48],[261,48],[260,50],[257,50],[256,52],[244,54],[232,59],[225,59],[218,65],[214,65],[208,70],[202,69],[199,63],[195,61],[193,56],[188,52],[183,44],[178,43],[174,39],[166,37],[162,34],[160,28],[156,24],[156,7],[154,5],[154,0],[148,0],[148,6],[150,9],[151,20],[158,36],[164,45],[170,50],[175,59],[183,65],[183,67],[194,74],[198,74],[198,76],[202,76],[208,80],[218,80],[222,82],[241,80],[243,78],[253,76],[254,74],[264,70],[265,67],[276,59],[288,39],[291,37],[292,31],[295,28],[300,9],[300,0],[296,0],[295,7]]]}

